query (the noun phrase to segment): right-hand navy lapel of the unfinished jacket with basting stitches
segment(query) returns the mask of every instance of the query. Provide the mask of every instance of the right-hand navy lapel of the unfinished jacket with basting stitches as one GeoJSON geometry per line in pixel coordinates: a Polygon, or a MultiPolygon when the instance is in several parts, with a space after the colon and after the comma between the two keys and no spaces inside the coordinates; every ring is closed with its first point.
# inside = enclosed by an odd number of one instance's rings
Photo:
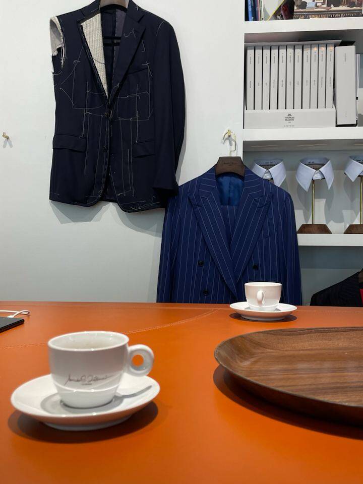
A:
{"type": "Polygon", "coordinates": [[[114,67],[112,90],[110,92],[110,104],[112,104],[120,82],[129,69],[136,49],[141,41],[145,27],[139,24],[144,13],[132,0],[129,2],[124,31],[118,47],[117,60],[114,67]]]}

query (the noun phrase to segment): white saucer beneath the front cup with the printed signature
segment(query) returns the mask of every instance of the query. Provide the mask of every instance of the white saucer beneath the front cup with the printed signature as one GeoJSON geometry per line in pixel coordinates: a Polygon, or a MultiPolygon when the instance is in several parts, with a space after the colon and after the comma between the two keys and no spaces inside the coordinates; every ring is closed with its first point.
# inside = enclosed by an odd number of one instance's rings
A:
{"type": "Polygon", "coordinates": [[[101,407],[72,408],[56,392],[50,375],[35,378],[18,387],[11,396],[13,406],[59,430],[96,430],[116,425],[141,410],[159,393],[150,377],[125,374],[113,400],[101,407]]]}

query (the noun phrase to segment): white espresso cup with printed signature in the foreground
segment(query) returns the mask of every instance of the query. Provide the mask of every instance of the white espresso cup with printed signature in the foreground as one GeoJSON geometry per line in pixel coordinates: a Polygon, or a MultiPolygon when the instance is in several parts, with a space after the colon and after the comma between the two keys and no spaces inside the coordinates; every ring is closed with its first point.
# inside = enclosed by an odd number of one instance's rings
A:
{"type": "Polygon", "coordinates": [[[83,331],[56,336],[48,341],[53,383],[66,405],[90,408],[105,405],[114,397],[123,373],[147,375],[154,354],[143,344],[128,346],[125,334],[83,331]],[[142,365],[132,361],[143,357],[142,365]]]}

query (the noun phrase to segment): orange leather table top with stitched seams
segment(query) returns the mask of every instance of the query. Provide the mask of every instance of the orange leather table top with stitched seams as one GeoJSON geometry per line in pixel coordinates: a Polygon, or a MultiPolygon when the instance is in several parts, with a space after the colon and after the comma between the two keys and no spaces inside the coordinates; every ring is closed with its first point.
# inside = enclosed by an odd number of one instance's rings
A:
{"type": "Polygon", "coordinates": [[[289,321],[255,323],[227,306],[1,302],[29,309],[0,333],[3,484],[361,484],[363,429],[294,414],[236,387],[217,344],[275,328],[362,326],[363,309],[300,307],[289,321]],[[66,332],[110,330],[155,353],[155,401],[126,422],[93,432],[46,427],[15,411],[13,390],[49,373],[46,342],[66,332]]]}

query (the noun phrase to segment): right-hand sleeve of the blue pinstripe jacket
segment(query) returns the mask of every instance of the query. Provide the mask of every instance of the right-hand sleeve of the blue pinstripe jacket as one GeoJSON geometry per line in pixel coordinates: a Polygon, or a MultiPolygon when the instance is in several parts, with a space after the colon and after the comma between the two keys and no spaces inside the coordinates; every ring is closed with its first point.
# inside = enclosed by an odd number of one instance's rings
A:
{"type": "Polygon", "coordinates": [[[282,250],[284,270],[282,272],[282,301],[301,305],[301,276],[297,245],[295,212],[291,196],[286,194],[282,214],[282,250]]]}

